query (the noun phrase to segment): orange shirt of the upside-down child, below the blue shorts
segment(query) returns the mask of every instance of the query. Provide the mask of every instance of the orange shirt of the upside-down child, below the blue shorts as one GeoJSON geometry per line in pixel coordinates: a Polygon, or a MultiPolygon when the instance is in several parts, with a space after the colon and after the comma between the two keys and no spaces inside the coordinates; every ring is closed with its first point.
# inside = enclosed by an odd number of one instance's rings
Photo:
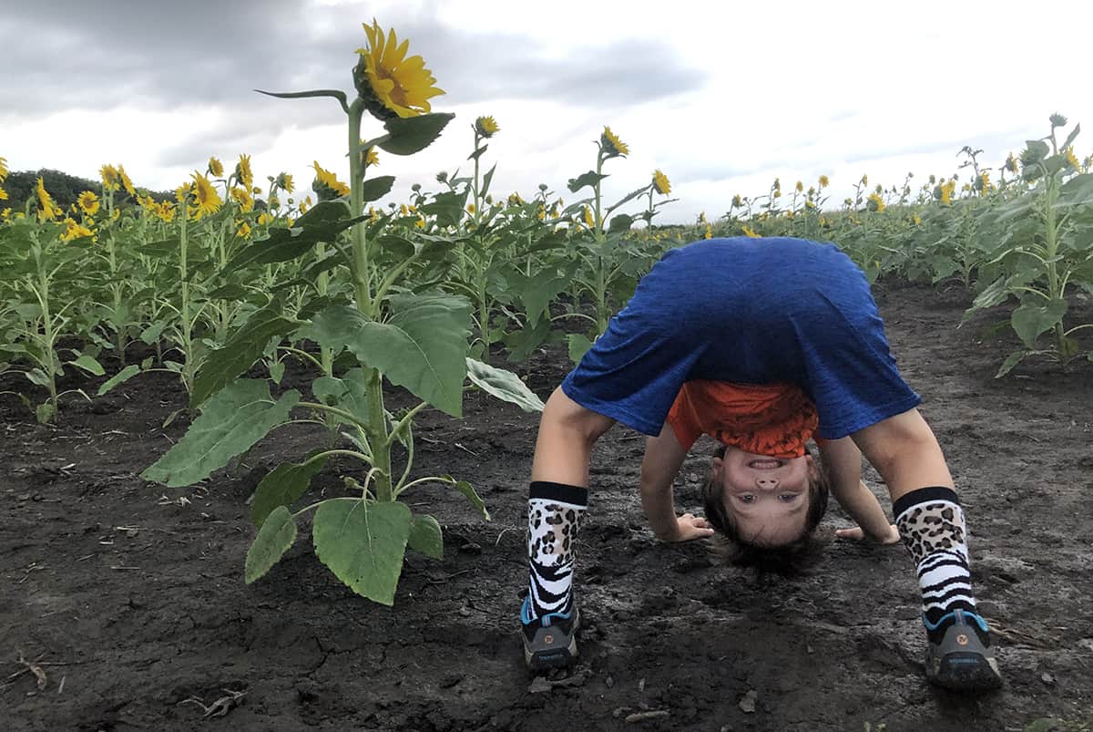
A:
{"type": "Polygon", "coordinates": [[[685,450],[708,434],[744,452],[788,460],[804,454],[819,418],[812,399],[794,384],[689,381],[668,423],[685,450]]]}

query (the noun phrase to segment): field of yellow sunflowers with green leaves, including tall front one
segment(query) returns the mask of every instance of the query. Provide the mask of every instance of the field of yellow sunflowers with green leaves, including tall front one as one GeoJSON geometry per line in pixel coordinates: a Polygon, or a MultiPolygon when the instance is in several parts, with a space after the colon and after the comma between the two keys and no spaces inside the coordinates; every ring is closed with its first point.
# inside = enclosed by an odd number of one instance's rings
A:
{"type": "Polygon", "coordinates": [[[63,430],[78,406],[169,381],[183,396],[158,427],[186,429],[156,442],[139,475],[172,507],[203,493],[169,490],[238,469],[275,431],[306,430],[245,500],[247,584],[307,526],[338,580],[392,605],[408,550],[445,558],[427,491],[492,518],[473,476],[419,469],[437,442],[433,420],[460,419],[472,399],[542,410],[528,364],[579,361],[642,276],[695,240],[834,242],[870,282],[956,291],[966,306],[953,329],[986,318],[990,333],[1015,336],[996,379],[1031,380],[1019,365],[1045,379],[1093,372],[1093,155],[1060,114],[1004,161],[968,146],[955,171],[896,183],[863,174],[842,201],[827,176],[776,178],[765,191],[725,191],[708,218],[662,225],[677,200],[663,171],[634,190],[606,184],[627,163],[624,130],[596,130],[587,170],[559,171],[556,190],[498,190],[506,162],[490,143],[504,120],[434,111],[444,92],[424,60],[375,21],[364,36],[351,92],[261,92],[282,114],[340,109],[345,181],[334,161],[314,161],[305,184],[256,173],[239,154],[210,158],[163,196],[114,162],[71,202],[37,177],[15,205],[0,158],[0,398],[11,409],[63,430]],[[465,136],[467,158],[391,200],[399,159],[440,135],[465,136]]]}

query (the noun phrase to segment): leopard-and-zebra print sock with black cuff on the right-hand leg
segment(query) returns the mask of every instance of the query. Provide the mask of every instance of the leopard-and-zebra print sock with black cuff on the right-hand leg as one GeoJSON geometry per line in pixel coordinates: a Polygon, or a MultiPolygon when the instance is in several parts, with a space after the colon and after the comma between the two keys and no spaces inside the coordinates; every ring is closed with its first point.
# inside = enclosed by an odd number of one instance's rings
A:
{"type": "MultiPolygon", "coordinates": [[[[903,543],[918,569],[922,591],[922,623],[932,642],[952,625],[953,611],[975,613],[968,570],[964,512],[951,488],[920,488],[892,507],[903,543]]],[[[983,630],[984,642],[989,642],[983,630]]]]}

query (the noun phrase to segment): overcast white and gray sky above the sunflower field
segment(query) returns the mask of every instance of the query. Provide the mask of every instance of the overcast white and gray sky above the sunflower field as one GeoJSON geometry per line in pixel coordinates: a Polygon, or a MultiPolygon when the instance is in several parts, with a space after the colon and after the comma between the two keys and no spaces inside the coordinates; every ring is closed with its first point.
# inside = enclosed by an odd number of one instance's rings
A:
{"type": "MultiPolygon", "coordinates": [[[[137,185],[171,189],[210,155],[251,155],[256,179],[281,171],[308,188],[318,160],[348,175],[344,115],[333,100],[282,101],[254,89],[352,91],[362,22],[375,16],[447,94],[456,119],[396,175],[435,190],[462,165],[470,125],[501,132],[483,159],[493,190],[567,199],[595,165],[604,125],[631,148],[611,161],[609,197],[655,169],[680,200],[659,221],[728,210],[772,179],[830,176],[831,204],[863,173],[891,186],[907,172],[956,171],[965,144],[998,166],[1044,136],[1053,112],[1090,132],[1084,2],[526,3],[486,0],[3,0],[0,156],[12,171],[97,177],[121,163],[137,185]]],[[[366,123],[369,124],[369,123],[366,123]]],[[[378,123],[365,128],[376,132],[378,123]]]]}

